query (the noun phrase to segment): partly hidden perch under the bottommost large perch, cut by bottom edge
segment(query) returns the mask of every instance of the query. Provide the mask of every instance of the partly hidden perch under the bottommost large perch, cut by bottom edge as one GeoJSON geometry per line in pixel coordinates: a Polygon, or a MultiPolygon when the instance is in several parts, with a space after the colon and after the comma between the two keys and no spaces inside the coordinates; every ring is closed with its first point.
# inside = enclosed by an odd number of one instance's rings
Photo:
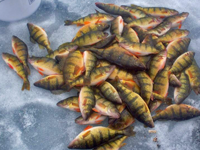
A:
{"type": "Polygon", "coordinates": [[[101,146],[98,146],[96,148],[94,148],[93,150],[119,150],[121,147],[123,147],[124,145],[126,145],[125,143],[123,143],[124,140],[126,140],[128,137],[127,136],[122,136],[122,137],[118,137],[115,138],[101,146]]]}

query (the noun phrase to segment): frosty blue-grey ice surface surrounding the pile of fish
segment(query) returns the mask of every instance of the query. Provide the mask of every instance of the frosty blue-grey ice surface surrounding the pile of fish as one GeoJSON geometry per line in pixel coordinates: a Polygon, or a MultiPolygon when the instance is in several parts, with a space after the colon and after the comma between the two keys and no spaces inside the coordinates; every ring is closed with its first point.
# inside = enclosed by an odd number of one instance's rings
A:
{"type": "MultiPolygon", "coordinates": [[[[29,18],[6,23],[0,21],[0,51],[12,53],[11,37],[19,36],[27,43],[29,54],[45,56],[46,51],[29,41],[27,22],[42,26],[56,49],[60,44],[69,42],[78,30],[76,26],[64,26],[65,19],[77,19],[93,13],[96,0],[43,0],[38,11],[29,18]]],[[[192,39],[189,49],[196,52],[195,58],[200,65],[200,13],[198,0],[104,0],[101,2],[119,5],[138,4],[141,6],[163,6],[186,11],[190,15],[183,28],[190,30],[192,39]]],[[[97,8],[96,8],[97,9],[97,8]]],[[[74,123],[79,113],[70,112],[56,106],[59,100],[76,92],[53,95],[49,91],[33,86],[42,76],[31,67],[31,90],[21,91],[22,80],[0,59],[0,150],[66,150],[67,145],[85,126],[74,123]]],[[[173,96],[173,89],[170,89],[173,96]]],[[[192,92],[185,103],[200,109],[199,97],[192,92]]],[[[135,137],[127,139],[123,150],[199,150],[200,117],[188,121],[157,121],[156,134],[149,134],[149,128],[136,122],[135,137]],[[157,137],[158,142],[153,142],[157,137]],[[160,146],[160,148],[158,148],[160,146]]]]}

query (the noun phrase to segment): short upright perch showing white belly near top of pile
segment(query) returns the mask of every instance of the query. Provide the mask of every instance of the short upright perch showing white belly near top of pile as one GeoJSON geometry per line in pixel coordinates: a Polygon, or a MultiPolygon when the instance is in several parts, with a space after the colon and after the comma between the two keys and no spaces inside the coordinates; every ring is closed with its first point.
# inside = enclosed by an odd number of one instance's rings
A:
{"type": "Polygon", "coordinates": [[[121,35],[124,28],[124,21],[121,16],[118,16],[111,22],[110,33],[121,35]]]}

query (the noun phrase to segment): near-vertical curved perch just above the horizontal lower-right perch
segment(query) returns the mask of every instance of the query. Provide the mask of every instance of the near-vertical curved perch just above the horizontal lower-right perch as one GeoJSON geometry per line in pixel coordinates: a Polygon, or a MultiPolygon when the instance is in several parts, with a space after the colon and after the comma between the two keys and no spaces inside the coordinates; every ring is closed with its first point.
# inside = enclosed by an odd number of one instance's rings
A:
{"type": "Polygon", "coordinates": [[[176,104],[181,104],[191,92],[190,81],[184,72],[181,73],[179,80],[181,87],[176,87],[174,90],[174,101],[176,104]]]}

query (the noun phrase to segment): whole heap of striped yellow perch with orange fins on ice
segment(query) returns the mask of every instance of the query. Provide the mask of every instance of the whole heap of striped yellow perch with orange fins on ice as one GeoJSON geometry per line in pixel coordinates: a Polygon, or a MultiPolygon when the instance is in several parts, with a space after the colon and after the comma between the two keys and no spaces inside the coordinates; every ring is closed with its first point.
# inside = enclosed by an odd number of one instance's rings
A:
{"type": "Polygon", "coordinates": [[[52,50],[45,30],[28,23],[30,40],[46,48],[44,57],[29,57],[26,44],[13,36],[16,56],[3,59],[30,89],[29,62],[43,79],[35,86],[54,94],[79,91],[78,96],[57,103],[80,112],[75,122],[89,126],[68,146],[70,149],[118,150],[135,135],[131,125],[138,120],[153,128],[156,120],[186,120],[200,116],[200,110],[182,104],[193,90],[200,93],[200,69],[188,51],[189,31],[180,29],[187,12],[163,7],[117,6],[95,3],[96,11],[65,25],[82,26],[71,42],[52,50]],[[115,15],[115,16],[112,16],[115,15]],[[111,23],[109,23],[111,22],[111,23]],[[105,32],[110,28],[110,34],[105,32]],[[174,87],[174,99],[168,96],[174,87]],[[173,104],[173,102],[175,104],[173,104]],[[155,111],[161,104],[165,110],[155,111]],[[108,118],[108,127],[96,126],[108,118]]]}

